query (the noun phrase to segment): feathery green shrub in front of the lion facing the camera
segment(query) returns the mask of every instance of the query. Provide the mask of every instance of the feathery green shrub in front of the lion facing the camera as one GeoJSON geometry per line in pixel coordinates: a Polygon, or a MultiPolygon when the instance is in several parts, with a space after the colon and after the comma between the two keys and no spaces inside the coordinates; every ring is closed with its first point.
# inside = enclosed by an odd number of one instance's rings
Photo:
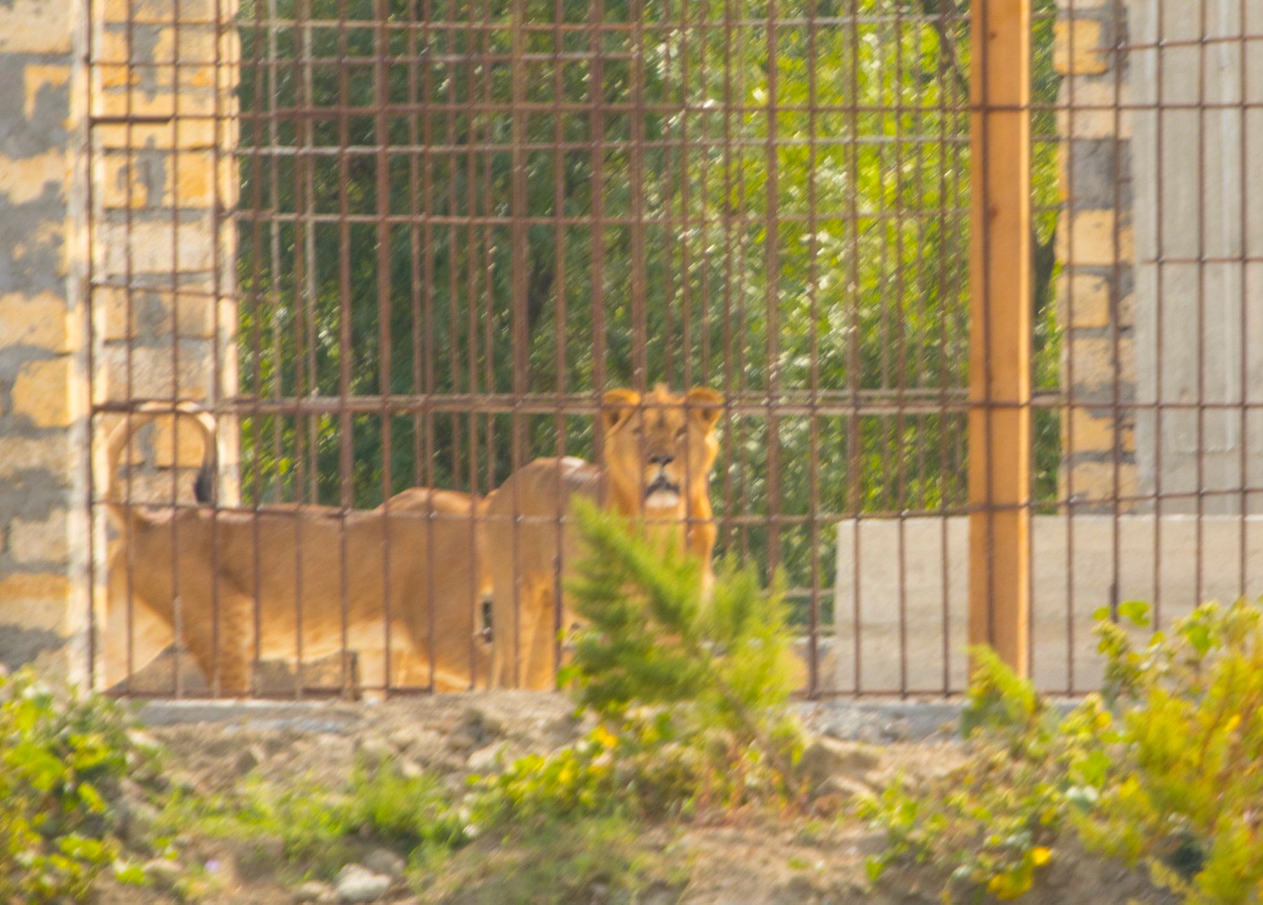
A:
{"type": "Polygon", "coordinates": [[[724,563],[703,601],[695,557],[585,500],[575,511],[587,555],[570,592],[586,625],[565,678],[618,738],[614,757],[663,790],[706,785],[729,803],[767,785],[794,793],[796,663],[778,589],[724,563]]]}

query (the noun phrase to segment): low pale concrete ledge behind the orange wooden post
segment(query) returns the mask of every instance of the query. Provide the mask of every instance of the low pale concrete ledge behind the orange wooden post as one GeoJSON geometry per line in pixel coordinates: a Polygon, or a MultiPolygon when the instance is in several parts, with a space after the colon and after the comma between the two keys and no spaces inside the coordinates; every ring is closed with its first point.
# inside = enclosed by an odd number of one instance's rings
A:
{"type": "MultiPolygon", "coordinates": [[[[1170,625],[1201,601],[1263,594],[1263,516],[1244,518],[1244,549],[1242,516],[1202,516],[1200,547],[1190,515],[1048,515],[1032,523],[1032,671],[1045,692],[1095,690],[1101,660],[1092,613],[1103,606],[1148,601],[1159,624],[1170,625]]],[[[940,690],[946,671],[947,690],[962,692],[967,519],[844,521],[837,541],[832,689],[940,690]]]]}

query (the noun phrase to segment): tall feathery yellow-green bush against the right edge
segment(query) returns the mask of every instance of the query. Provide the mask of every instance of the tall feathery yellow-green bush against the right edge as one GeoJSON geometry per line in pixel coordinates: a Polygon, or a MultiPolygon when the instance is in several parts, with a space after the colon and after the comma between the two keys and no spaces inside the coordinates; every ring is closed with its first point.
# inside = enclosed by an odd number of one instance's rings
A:
{"type": "MultiPolygon", "coordinates": [[[[1144,607],[1132,611],[1147,625],[1144,607]]],[[[1120,714],[1111,781],[1081,820],[1087,844],[1146,862],[1194,905],[1263,899],[1263,611],[1206,605],[1137,646],[1103,622],[1120,714]]]]}

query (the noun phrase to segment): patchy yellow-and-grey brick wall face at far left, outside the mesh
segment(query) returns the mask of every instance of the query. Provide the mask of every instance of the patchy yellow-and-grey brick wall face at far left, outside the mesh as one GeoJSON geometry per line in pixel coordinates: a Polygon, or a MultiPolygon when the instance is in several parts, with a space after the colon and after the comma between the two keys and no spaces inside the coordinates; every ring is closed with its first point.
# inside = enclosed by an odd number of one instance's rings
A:
{"type": "Polygon", "coordinates": [[[0,664],[68,669],[87,617],[82,9],[0,4],[0,664]]]}

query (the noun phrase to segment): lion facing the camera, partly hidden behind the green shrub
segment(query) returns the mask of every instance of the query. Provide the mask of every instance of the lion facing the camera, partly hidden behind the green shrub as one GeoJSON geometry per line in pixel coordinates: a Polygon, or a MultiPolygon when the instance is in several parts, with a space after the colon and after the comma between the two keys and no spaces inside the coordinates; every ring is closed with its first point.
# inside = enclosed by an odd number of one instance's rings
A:
{"type": "MultiPolygon", "coordinates": [[[[556,684],[554,618],[560,582],[575,562],[563,521],[571,497],[597,500],[650,533],[674,535],[705,563],[711,581],[716,530],[710,472],[722,396],[695,387],[683,396],[657,386],[645,396],[616,389],[601,400],[604,462],[541,458],[514,472],[486,509],[491,560],[491,687],[556,684]]],[[[565,612],[563,621],[571,617],[565,612]]],[[[567,622],[568,624],[568,622],[567,622]]]]}

